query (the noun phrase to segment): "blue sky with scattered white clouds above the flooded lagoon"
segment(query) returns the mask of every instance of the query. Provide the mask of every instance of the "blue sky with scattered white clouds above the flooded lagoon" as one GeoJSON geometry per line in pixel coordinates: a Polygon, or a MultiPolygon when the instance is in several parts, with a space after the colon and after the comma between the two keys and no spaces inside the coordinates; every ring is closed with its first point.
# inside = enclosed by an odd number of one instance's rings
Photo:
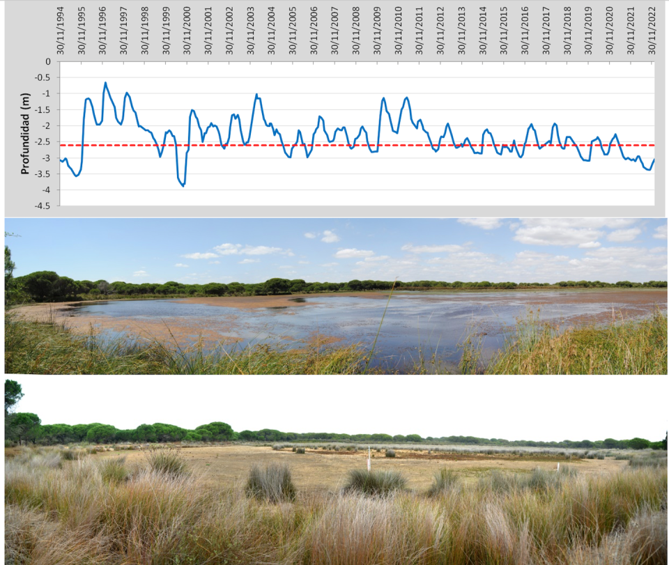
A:
{"type": "Polygon", "coordinates": [[[15,276],[206,284],[271,277],[667,279],[666,219],[6,219],[15,276]]]}

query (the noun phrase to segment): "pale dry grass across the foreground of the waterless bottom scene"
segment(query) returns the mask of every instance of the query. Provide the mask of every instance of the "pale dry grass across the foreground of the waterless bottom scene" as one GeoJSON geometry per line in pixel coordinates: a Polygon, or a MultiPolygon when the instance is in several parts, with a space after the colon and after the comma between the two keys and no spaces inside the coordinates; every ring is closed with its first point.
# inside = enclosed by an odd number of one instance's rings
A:
{"type": "Polygon", "coordinates": [[[123,456],[60,465],[54,457],[6,461],[6,563],[667,563],[666,467],[597,477],[508,474],[472,486],[440,473],[431,495],[272,497],[148,462],[129,467],[123,456]]]}

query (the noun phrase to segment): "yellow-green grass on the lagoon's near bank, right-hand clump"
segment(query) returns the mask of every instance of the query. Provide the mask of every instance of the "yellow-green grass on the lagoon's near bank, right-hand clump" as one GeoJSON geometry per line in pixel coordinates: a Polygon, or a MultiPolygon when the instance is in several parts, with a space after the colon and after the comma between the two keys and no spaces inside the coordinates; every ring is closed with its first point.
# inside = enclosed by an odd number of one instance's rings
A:
{"type": "Polygon", "coordinates": [[[518,318],[504,346],[482,363],[482,342],[462,344],[460,371],[491,375],[666,375],[667,316],[569,327],[544,323],[539,311],[518,318]]]}

